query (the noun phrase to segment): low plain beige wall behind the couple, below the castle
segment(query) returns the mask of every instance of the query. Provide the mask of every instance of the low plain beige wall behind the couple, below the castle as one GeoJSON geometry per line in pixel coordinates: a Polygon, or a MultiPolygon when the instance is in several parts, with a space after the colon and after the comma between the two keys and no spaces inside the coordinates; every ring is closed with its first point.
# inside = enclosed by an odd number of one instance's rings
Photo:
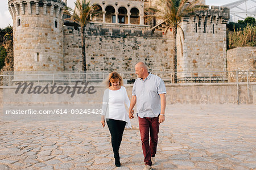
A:
{"type": "MultiPolygon", "coordinates": [[[[90,84],[89,84],[90,86],[90,84]]],[[[125,85],[127,94],[129,98],[131,98],[131,90],[133,88],[133,84],[125,85]]],[[[14,94],[15,87],[0,87],[0,104],[2,105],[2,94],[3,88],[10,89],[11,94],[10,97],[13,97],[13,101],[19,101],[20,99],[16,99],[17,96],[14,94]]],[[[102,93],[104,91],[104,87],[95,86],[96,90],[101,90],[102,93]]],[[[237,104],[238,100],[240,104],[256,104],[256,83],[251,83],[249,89],[247,89],[247,83],[240,83],[238,86],[239,97],[237,97],[237,84],[236,83],[208,83],[208,84],[166,84],[167,90],[167,104],[237,104]]],[[[43,95],[44,101],[47,101],[46,105],[69,105],[69,104],[82,104],[86,103],[89,98],[85,95],[75,96],[70,98],[70,94],[61,95],[43,95]],[[49,99],[47,98],[49,97],[49,99]],[[49,103],[51,101],[52,103],[49,103]]],[[[21,94],[20,94],[21,96],[21,94]]],[[[34,97],[33,101],[39,107],[42,106],[42,103],[38,101],[42,99],[38,99],[37,95],[31,96],[34,97]]],[[[101,101],[102,94],[91,95],[90,99],[92,101],[101,101]]],[[[9,98],[9,100],[12,98],[9,98]]],[[[23,101],[30,101],[28,97],[24,98],[23,101]]],[[[20,103],[22,106],[24,103],[20,103]]],[[[1,107],[0,105],[0,107],[1,107]]]]}

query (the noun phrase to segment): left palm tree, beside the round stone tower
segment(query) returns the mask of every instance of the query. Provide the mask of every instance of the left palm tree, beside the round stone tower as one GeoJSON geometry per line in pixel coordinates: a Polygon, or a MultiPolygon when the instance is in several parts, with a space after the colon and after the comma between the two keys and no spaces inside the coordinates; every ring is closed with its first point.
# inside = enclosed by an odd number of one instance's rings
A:
{"type": "Polygon", "coordinates": [[[71,15],[73,22],[79,23],[81,26],[81,39],[82,39],[82,71],[86,71],[86,55],[85,55],[85,26],[88,24],[94,16],[97,16],[101,12],[96,5],[90,5],[90,2],[86,0],[76,0],[75,9],[67,7],[65,14],[71,15]],[[71,14],[71,12],[73,14],[71,14]]]}

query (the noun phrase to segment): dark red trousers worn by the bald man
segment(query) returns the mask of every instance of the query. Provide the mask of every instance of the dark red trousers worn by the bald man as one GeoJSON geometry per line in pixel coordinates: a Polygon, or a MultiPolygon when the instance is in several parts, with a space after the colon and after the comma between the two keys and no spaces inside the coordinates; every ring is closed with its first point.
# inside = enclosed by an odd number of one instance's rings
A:
{"type": "Polygon", "coordinates": [[[155,157],[158,145],[159,117],[139,117],[139,131],[141,132],[141,145],[146,165],[152,165],[151,157],[155,157]],[[150,145],[149,145],[150,133],[150,145]]]}

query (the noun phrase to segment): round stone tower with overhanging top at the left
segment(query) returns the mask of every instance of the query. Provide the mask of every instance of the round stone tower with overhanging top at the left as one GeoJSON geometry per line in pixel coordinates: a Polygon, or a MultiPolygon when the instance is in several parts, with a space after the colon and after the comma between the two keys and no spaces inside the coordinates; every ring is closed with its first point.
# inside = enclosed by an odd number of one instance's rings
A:
{"type": "Polygon", "coordinates": [[[63,71],[61,0],[9,0],[13,18],[14,71],[63,71]]]}

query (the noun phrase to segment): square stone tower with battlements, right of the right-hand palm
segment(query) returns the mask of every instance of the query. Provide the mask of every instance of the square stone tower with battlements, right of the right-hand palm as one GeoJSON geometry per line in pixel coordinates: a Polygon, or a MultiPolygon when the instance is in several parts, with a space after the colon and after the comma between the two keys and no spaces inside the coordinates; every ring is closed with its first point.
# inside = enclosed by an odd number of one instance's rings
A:
{"type": "MultiPolygon", "coordinates": [[[[193,76],[209,76],[200,71],[226,71],[226,22],[229,9],[212,6],[207,11],[184,17],[177,35],[177,71],[193,71],[193,76]],[[182,50],[183,49],[183,53],[182,50]]],[[[224,74],[216,73],[212,76],[224,74]]],[[[184,73],[180,76],[191,76],[184,73]]]]}

